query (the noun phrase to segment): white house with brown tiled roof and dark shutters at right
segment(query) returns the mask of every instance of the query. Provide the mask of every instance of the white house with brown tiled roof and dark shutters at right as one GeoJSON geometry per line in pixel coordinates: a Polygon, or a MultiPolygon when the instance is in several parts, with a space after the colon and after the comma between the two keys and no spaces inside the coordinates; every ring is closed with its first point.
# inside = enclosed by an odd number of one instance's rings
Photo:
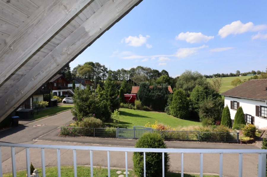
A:
{"type": "Polygon", "coordinates": [[[223,92],[224,106],[228,105],[232,123],[240,106],[247,123],[260,129],[267,127],[267,79],[249,80],[223,92]]]}

